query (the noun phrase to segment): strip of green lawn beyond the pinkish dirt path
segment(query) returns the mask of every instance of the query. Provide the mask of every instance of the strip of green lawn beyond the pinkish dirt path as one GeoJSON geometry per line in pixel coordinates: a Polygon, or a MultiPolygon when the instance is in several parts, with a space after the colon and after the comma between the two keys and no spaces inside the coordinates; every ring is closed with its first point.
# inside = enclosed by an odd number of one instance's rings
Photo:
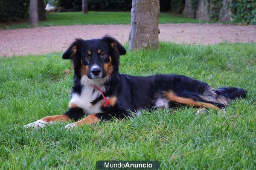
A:
{"type": "MultiPolygon", "coordinates": [[[[175,16],[172,14],[160,14],[159,23],[201,23],[198,19],[175,16]]],[[[61,12],[48,13],[47,21],[41,21],[39,26],[67,26],[67,25],[88,25],[88,24],[130,24],[130,12],[61,12]]],[[[0,29],[30,28],[28,22],[7,24],[0,26],[0,29]]]]}

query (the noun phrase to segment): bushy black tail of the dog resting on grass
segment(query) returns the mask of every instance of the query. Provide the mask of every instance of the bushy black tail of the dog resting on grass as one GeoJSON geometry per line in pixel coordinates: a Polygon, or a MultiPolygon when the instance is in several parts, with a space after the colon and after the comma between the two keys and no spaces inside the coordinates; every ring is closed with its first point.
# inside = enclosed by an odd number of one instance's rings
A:
{"type": "Polygon", "coordinates": [[[245,98],[247,91],[236,87],[221,87],[215,89],[217,95],[222,95],[227,99],[234,100],[236,98],[245,98]]]}

